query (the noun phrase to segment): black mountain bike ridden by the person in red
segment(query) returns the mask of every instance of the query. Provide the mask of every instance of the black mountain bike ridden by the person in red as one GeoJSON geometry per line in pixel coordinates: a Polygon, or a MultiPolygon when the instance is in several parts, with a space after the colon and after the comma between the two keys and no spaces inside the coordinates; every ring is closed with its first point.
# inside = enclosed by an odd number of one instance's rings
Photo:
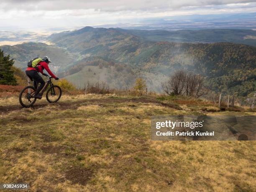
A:
{"type": "MultiPolygon", "coordinates": [[[[49,80],[46,81],[46,85],[44,86],[43,90],[41,91],[41,95],[47,90],[48,86],[50,85],[49,89],[46,91],[46,100],[50,103],[59,101],[62,91],[61,88],[58,85],[54,85],[51,82],[51,78],[49,77],[49,80]]],[[[33,86],[27,86],[25,87],[19,95],[19,101],[20,105],[22,105],[24,108],[29,108],[36,102],[35,96],[36,88],[33,86]]]]}

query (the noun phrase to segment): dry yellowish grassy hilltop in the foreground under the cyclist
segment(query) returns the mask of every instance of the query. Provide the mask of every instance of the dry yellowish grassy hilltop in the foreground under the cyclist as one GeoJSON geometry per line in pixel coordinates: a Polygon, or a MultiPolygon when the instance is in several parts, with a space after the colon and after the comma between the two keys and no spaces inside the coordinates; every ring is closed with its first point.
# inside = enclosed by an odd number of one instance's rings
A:
{"type": "Polygon", "coordinates": [[[0,183],[29,183],[31,191],[255,191],[255,141],[151,141],[154,115],[256,115],[218,110],[154,95],[64,95],[33,108],[2,97],[0,183]]]}

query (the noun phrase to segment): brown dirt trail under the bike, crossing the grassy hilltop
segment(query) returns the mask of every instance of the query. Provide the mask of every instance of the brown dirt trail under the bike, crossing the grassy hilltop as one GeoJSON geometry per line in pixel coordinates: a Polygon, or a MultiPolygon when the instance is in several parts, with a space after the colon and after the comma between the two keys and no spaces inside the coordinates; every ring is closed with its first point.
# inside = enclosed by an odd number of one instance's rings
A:
{"type": "MultiPolygon", "coordinates": [[[[88,104],[104,104],[104,103],[111,103],[111,102],[115,102],[115,103],[120,103],[120,102],[142,102],[142,103],[156,103],[156,104],[160,104],[163,105],[165,107],[169,107],[169,108],[174,108],[177,110],[182,110],[182,108],[180,108],[179,106],[172,104],[172,103],[164,103],[164,102],[160,102],[158,100],[154,100],[151,98],[145,98],[145,97],[141,97],[141,98],[132,98],[132,99],[127,99],[127,98],[105,98],[105,99],[89,99],[89,100],[79,100],[79,101],[74,101],[74,102],[56,102],[56,103],[49,103],[49,102],[44,102],[44,103],[40,103],[40,104],[34,104],[31,108],[32,109],[38,109],[38,108],[43,108],[47,105],[57,105],[59,106],[59,108],[61,110],[66,110],[66,109],[76,109],[80,106],[81,103],[87,102],[88,104]]],[[[0,106],[0,113],[8,113],[11,111],[15,111],[15,110],[21,110],[23,109],[23,107],[21,105],[8,105],[8,106],[0,106]]]]}

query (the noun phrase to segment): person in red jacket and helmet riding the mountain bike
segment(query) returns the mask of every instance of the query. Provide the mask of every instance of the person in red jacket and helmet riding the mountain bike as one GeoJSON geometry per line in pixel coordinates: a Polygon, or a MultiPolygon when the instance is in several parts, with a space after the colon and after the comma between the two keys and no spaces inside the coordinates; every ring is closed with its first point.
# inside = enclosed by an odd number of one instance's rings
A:
{"type": "Polygon", "coordinates": [[[34,80],[34,87],[36,88],[36,92],[35,92],[35,96],[38,99],[42,98],[42,95],[39,93],[45,85],[44,79],[39,75],[39,72],[41,74],[43,74],[44,76],[47,76],[47,74],[45,74],[43,72],[43,70],[45,69],[49,75],[51,75],[51,77],[53,77],[54,79],[58,80],[59,78],[56,77],[51,70],[49,69],[49,63],[51,63],[51,60],[48,56],[45,56],[41,62],[38,63],[38,65],[35,67],[28,67],[26,69],[26,75],[29,77],[29,79],[31,81],[34,80]],[[40,83],[40,86],[38,87],[37,84],[40,83]]]}

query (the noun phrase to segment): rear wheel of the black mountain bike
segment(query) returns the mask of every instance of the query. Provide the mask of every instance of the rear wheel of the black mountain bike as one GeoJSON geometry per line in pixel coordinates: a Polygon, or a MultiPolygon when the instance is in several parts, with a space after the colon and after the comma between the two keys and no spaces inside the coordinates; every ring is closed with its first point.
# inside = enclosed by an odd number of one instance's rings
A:
{"type": "Polygon", "coordinates": [[[25,87],[19,95],[19,101],[20,105],[22,105],[24,108],[29,108],[36,102],[36,98],[33,97],[36,92],[35,87],[28,86],[25,87]]]}

